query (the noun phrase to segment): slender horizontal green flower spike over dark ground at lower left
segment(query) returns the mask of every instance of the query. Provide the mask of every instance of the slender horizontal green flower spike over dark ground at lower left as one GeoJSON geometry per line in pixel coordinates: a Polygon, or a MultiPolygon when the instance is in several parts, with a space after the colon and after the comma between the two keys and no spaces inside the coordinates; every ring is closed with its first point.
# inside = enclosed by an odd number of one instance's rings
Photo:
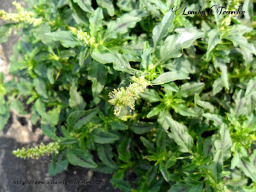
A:
{"type": "Polygon", "coordinates": [[[35,148],[24,148],[22,147],[21,149],[17,149],[13,151],[13,154],[17,157],[20,157],[21,159],[26,159],[28,158],[36,158],[38,159],[40,156],[44,156],[45,154],[58,154],[58,150],[60,149],[60,145],[58,143],[49,143],[48,145],[44,145],[44,143],[41,143],[35,148]]]}

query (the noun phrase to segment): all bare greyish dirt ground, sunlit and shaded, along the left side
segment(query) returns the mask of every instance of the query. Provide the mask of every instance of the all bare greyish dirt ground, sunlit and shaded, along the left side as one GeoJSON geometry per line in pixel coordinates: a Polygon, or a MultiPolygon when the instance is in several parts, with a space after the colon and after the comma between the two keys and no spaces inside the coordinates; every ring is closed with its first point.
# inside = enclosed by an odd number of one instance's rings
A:
{"type": "MultiPolygon", "coordinates": [[[[23,1],[22,1],[23,2],[23,1]]],[[[0,10],[13,12],[12,1],[0,0],[0,10]]],[[[0,20],[0,26],[3,24],[0,20]]],[[[19,40],[14,34],[8,42],[0,45],[0,72],[4,72],[5,79],[12,78],[8,74],[8,60],[12,56],[12,47],[19,40]]],[[[1,106],[0,106],[1,107],[1,106]]],[[[68,166],[67,171],[54,177],[48,175],[48,167],[51,157],[35,159],[19,159],[12,154],[13,150],[21,147],[35,147],[39,143],[48,142],[49,138],[42,134],[40,125],[33,126],[30,116],[20,117],[12,112],[8,124],[0,131],[0,192],[33,192],[33,191],[120,191],[113,189],[109,180],[111,174],[92,172],[90,169],[78,166],[68,166]],[[80,181],[86,180],[102,182],[104,184],[65,185],[52,184],[56,181],[80,181]],[[36,181],[44,181],[46,184],[35,184],[36,181]],[[34,182],[34,184],[32,184],[34,182]],[[47,184],[50,182],[50,184],[47,184]],[[29,184],[30,183],[30,184],[29,184]]]]}

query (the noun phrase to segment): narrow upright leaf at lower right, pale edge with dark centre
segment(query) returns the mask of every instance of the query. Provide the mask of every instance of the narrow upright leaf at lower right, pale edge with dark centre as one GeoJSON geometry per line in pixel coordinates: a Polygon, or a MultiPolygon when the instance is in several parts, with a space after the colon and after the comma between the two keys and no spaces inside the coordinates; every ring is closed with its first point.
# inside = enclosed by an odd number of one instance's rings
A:
{"type": "Polygon", "coordinates": [[[218,183],[221,180],[222,172],[223,171],[223,157],[222,151],[217,150],[216,154],[214,155],[213,163],[212,163],[212,176],[213,179],[218,183]]]}

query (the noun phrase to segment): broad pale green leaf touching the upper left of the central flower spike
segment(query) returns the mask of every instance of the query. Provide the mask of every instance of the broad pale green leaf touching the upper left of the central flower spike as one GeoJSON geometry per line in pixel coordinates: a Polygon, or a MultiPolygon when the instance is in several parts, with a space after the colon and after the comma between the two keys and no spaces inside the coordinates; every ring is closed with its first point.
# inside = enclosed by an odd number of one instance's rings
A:
{"type": "Polygon", "coordinates": [[[131,65],[122,54],[110,52],[106,47],[98,46],[92,52],[92,58],[102,64],[113,63],[115,70],[133,74],[131,65]]]}

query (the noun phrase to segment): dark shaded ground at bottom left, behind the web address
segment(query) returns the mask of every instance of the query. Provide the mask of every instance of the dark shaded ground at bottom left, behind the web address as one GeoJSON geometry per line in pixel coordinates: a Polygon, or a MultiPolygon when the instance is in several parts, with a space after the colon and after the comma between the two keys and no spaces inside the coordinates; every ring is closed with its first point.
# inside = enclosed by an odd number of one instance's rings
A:
{"type": "Polygon", "coordinates": [[[39,191],[120,191],[113,189],[109,180],[111,174],[92,172],[78,166],[68,166],[67,171],[54,177],[48,175],[47,170],[50,157],[35,159],[19,159],[12,154],[12,150],[22,147],[12,138],[0,137],[0,191],[1,192],[39,192],[39,191]],[[54,182],[86,181],[90,184],[53,184],[54,182]],[[44,184],[35,184],[35,182],[44,184]],[[30,184],[29,184],[30,182],[30,184]],[[34,183],[33,183],[34,182],[34,183]],[[100,182],[100,184],[96,184],[100,182]],[[33,183],[33,184],[32,184],[33,183]],[[48,183],[48,184],[47,184],[48,183]],[[95,183],[95,184],[93,184],[95,183]]]}

